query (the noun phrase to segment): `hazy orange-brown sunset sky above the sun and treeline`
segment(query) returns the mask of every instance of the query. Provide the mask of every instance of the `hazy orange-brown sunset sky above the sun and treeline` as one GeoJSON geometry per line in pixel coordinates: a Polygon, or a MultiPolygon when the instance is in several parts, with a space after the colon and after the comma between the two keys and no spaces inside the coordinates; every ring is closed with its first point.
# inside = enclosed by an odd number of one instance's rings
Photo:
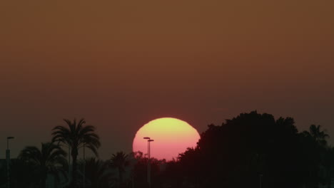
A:
{"type": "Polygon", "coordinates": [[[0,158],[6,136],[16,157],[64,117],[96,125],[103,159],[130,152],[157,117],[203,132],[258,110],[334,137],[333,10],[332,0],[0,1],[0,158]]]}

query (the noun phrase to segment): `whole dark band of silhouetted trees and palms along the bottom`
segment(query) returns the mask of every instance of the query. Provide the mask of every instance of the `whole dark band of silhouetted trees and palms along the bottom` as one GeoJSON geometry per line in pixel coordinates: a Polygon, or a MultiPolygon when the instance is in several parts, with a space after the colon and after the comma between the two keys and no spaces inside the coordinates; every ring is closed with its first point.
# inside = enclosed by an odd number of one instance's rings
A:
{"type": "MultiPolygon", "coordinates": [[[[84,120],[65,122],[54,127],[51,142],[25,147],[11,160],[11,187],[148,187],[146,155],[117,152],[99,160],[95,127],[84,120]],[[96,157],[79,158],[83,147],[96,157]]],[[[177,159],[151,159],[151,187],[329,188],[334,150],[328,137],[320,125],[299,132],[291,117],[242,113],[208,125],[197,147],[177,159]]],[[[6,187],[5,165],[0,173],[0,186],[6,187]]]]}

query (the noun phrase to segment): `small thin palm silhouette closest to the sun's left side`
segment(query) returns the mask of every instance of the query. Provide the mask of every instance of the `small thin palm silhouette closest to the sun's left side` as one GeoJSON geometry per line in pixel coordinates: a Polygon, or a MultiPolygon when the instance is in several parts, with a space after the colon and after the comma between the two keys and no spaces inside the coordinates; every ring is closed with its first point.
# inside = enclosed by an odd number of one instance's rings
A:
{"type": "Polygon", "coordinates": [[[124,152],[117,152],[116,155],[111,156],[111,167],[116,167],[118,169],[118,181],[119,184],[123,182],[123,172],[125,172],[126,167],[129,164],[128,155],[124,152]]]}

